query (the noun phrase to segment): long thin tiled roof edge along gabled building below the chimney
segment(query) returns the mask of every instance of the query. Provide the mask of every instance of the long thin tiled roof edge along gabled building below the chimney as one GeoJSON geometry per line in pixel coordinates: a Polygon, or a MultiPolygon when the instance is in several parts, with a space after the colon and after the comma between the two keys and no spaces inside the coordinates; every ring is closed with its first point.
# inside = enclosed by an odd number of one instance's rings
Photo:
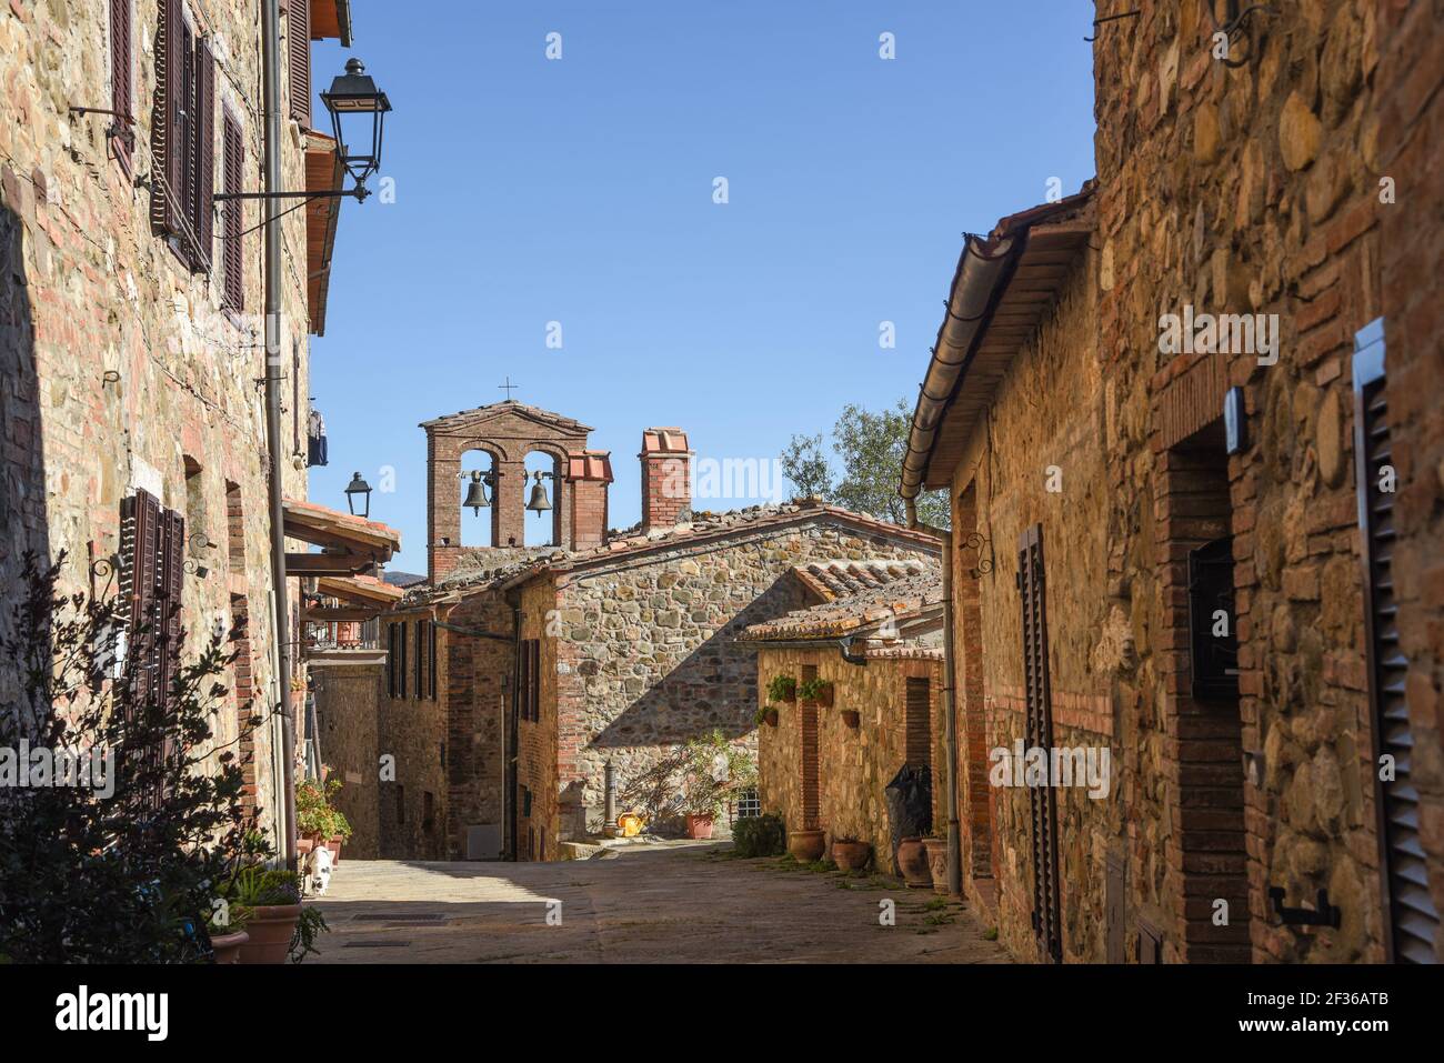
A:
{"type": "MultiPolygon", "coordinates": [[[[455,570],[435,586],[413,588],[407,594],[407,601],[420,604],[488,588],[516,586],[546,570],[570,572],[602,568],[615,560],[630,560],[650,552],[705,546],[708,543],[770,532],[777,527],[819,520],[845,524],[862,534],[888,536],[914,543],[923,549],[940,549],[939,540],[924,532],[914,532],[888,520],[878,520],[866,513],[853,513],[840,506],[827,506],[816,500],[807,500],[783,506],[752,506],[726,513],[697,511],[692,514],[690,523],[658,527],[647,533],[641,532],[641,524],[634,524],[624,532],[614,532],[606,543],[589,550],[552,550],[544,556],[508,559],[494,566],[478,565],[455,570]]],[[[478,560],[485,560],[485,552],[474,556],[478,560]]]]}

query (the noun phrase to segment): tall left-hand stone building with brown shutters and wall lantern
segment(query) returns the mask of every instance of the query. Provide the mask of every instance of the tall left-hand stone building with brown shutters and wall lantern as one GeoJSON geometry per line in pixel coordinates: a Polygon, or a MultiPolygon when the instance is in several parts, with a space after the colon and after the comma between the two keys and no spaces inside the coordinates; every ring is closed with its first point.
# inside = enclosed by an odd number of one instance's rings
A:
{"type": "MultiPolygon", "coordinates": [[[[310,42],[349,43],[348,0],[283,3],[282,169],[335,188],[315,129],[310,42]]],[[[68,563],[65,586],[140,595],[143,529],[157,527],[198,635],[243,624],[219,742],[270,692],[260,19],[243,0],[16,0],[0,12],[0,582],[20,557],[68,563]],[[182,568],[183,566],[183,568],[182,568]]],[[[325,326],[339,201],[282,222],[284,494],[306,497],[309,337],[325,326]]],[[[303,547],[297,547],[303,549],[303,547]]],[[[147,559],[149,560],[149,559],[147,559]]],[[[150,601],[150,599],[147,599],[150,601]]],[[[0,622],[4,622],[0,620],[0,622]]],[[[248,799],[280,833],[279,735],[258,729],[248,799]]]]}

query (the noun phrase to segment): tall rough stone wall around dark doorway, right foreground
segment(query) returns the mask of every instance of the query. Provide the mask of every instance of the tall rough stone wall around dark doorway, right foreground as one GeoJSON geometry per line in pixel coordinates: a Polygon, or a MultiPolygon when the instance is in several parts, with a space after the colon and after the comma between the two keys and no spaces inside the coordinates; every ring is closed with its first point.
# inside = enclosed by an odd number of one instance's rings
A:
{"type": "MultiPolygon", "coordinates": [[[[1119,533],[1109,578],[1126,589],[1142,657],[1129,767],[1136,754],[1157,810],[1138,820],[1129,875],[1139,904],[1157,908],[1167,959],[1238,956],[1210,919],[1220,895],[1212,880],[1232,878],[1235,861],[1210,855],[1227,816],[1204,797],[1232,784],[1227,752],[1239,745],[1266,765],[1261,784],[1245,781],[1253,958],[1382,958],[1349,442],[1352,337],[1382,311],[1378,218],[1391,209],[1376,152],[1379,10],[1334,0],[1256,14],[1235,42],[1236,69],[1210,52],[1204,3],[1149,7],[1096,52],[1119,533]],[[1276,313],[1278,364],[1160,354],[1158,316],[1183,303],[1276,313]],[[1178,622],[1180,550],[1193,536],[1177,504],[1191,469],[1180,449],[1216,423],[1227,386],[1245,389],[1249,432],[1229,461],[1222,513],[1236,559],[1236,741],[1187,696],[1178,622]],[[1271,885],[1292,904],[1327,887],[1343,929],[1276,926],[1271,885]]],[[[1235,906],[1233,927],[1240,916],[1235,906]]]]}

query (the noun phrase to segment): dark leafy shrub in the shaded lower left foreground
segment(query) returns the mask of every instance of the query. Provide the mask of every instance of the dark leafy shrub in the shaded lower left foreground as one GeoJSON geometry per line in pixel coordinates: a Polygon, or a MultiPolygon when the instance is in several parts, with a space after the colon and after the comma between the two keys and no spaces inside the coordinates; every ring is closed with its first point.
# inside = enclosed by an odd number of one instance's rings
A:
{"type": "MultiPolygon", "coordinates": [[[[214,638],[169,690],[146,696],[144,654],[120,653],[123,599],[59,595],[64,562],[40,569],[26,556],[0,637],[19,676],[0,703],[0,962],[204,962],[214,898],[258,846],[269,855],[235,755],[221,752],[218,767],[206,755],[227,693],[215,677],[234,653],[214,638]],[[17,786],[17,771],[40,781],[36,750],[42,761],[108,755],[108,778],[17,786]]],[[[130,631],[131,646],[146,634],[130,631]]],[[[170,646],[178,659],[183,638],[170,646]]]]}

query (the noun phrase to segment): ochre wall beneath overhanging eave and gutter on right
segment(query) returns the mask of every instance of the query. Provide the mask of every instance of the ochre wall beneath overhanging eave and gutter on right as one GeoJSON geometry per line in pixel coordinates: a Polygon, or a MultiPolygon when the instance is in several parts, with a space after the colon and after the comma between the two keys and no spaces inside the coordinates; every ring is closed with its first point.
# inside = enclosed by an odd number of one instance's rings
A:
{"type": "MultiPolygon", "coordinates": [[[[1110,511],[1105,474],[1105,383],[1096,337],[1096,256],[1084,253],[1035,338],[1014,358],[954,477],[954,654],[959,696],[965,880],[980,907],[996,906],[999,940],[1038,958],[1032,930],[1031,794],[992,784],[993,750],[1025,738],[1022,607],[1014,576],[1019,536],[1043,527],[1048,667],[1056,747],[1108,751],[1110,791],[1056,789],[1063,956],[1105,958],[1105,865],[1122,852],[1125,802],[1141,817],[1139,846],[1161,848],[1160,812],[1125,794],[1115,742],[1115,696],[1131,682],[1131,607],[1109,585],[1110,511]],[[1066,386],[1061,386],[1066,381],[1066,386]],[[969,534],[983,536],[966,549],[969,534]],[[973,575],[979,562],[991,570],[973,575]],[[970,778],[965,773],[972,773],[970,778]],[[979,832],[983,838],[979,839],[979,832]]],[[[983,565],[982,568],[988,568],[983,565]]]]}

